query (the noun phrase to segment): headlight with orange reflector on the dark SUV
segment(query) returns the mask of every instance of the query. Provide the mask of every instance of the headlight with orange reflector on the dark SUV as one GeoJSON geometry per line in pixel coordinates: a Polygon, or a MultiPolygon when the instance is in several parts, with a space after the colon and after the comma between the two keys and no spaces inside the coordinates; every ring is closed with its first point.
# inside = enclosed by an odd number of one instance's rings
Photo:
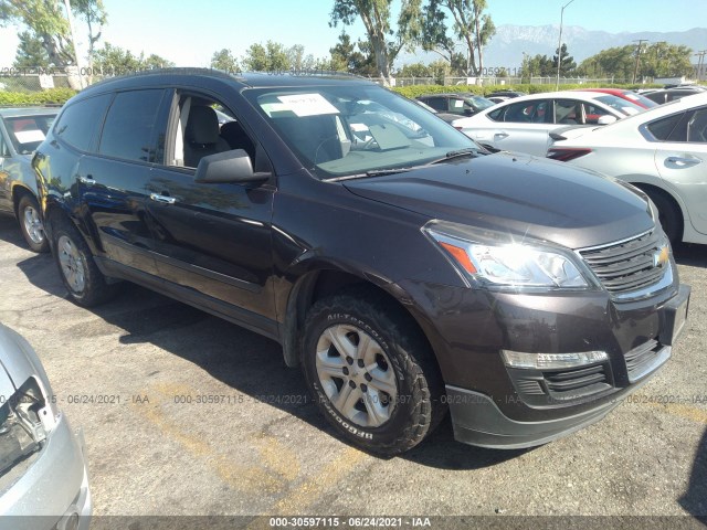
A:
{"type": "Polygon", "coordinates": [[[428,234],[473,280],[515,288],[587,288],[590,282],[570,251],[507,234],[431,221],[428,234]]]}

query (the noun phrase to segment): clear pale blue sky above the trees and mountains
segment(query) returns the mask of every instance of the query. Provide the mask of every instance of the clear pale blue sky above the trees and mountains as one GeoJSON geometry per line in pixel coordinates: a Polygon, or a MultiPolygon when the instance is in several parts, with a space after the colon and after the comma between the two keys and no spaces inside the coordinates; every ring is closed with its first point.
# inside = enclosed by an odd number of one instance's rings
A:
{"type": "MultiPolygon", "coordinates": [[[[496,25],[559,24],[569,0],[487,0],[496,25]]],[[[241,57],[250,44],[267,40],[303,44],[305,53],[328,56],[341,26],[329,28],[334,0],[104,0],[108,25],[103,42],[139,54],[156,53],[179,66],[208,66],[213,52],[241,57]]],[[[399,0],[395,0],[399,4],[399,0]]],[[[566,25],[610,33],[684,31],[707,26],[707,0],[573,0],[566,25]]],[[[77,21],[77,28],[83,25],[77,21]]],[[[17,28],[0,29],[0,67],[12,64],[17,28]]],[[[347,29],[363,35],[359,22],[347,29]]],[[[80,39],[81,41],[81,39],[80,39]]],[[[707,45],[707,43],[706,43],[707,45]]]]}

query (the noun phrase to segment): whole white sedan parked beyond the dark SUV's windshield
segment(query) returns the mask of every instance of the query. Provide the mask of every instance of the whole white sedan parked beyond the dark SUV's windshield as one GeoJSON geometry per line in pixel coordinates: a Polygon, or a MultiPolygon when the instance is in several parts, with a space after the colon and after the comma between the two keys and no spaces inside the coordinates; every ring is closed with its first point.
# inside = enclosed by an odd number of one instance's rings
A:
{"type": "Polygon", "coordinates": [[[544,157],[553,129],[605,125],[641,110],[639,105],[611,94],[564,91],[516,97],[452,125],[490,150],[544,157]]]}

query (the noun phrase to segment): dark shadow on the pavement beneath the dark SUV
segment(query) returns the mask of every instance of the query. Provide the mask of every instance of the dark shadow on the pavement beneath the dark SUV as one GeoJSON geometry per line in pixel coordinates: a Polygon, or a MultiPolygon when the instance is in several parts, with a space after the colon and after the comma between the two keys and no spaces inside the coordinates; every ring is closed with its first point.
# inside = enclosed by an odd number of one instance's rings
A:
{"type": "MultiPolygon", "coordinates": [[[[0,225],[0,239],[14,242],[9,232],[0,225]]],[[[19,233],[17,241],[21,241],[19,233]]],[[[32,285],[65,298],[51,255],[32,255],[18,266],[32,285]]],[[[285,365],[277,342],[151,290],[129,283],[124,286],[116,299],[89,309],[124,330],[118,339],[120,343],[155,344],[201,367],[235,392],[264,401],[334,436],[334,430],[313,402],[302,373],[285,365]]],[[[77,325],[67,332],[86,336],[92,329],[77,325]]],[[[156,370],[159,371],[159,367],[156,370]]],[[[428,441],[401,458],[442,469],[477,469],[523,453],[460,444],[454,441],[447,417],[428,441]]]]}

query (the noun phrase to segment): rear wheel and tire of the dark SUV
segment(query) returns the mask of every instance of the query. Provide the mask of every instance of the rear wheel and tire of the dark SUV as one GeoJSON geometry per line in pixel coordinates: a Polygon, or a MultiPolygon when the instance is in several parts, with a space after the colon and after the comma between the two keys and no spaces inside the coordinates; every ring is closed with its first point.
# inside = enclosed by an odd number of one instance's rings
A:
{"type": "Polygon", "coordinates": [[[74,304],[92,307],[117,294],[117,285],[106,282],[88,245],[68,220],[61,220],[52,225],[51,234],[59,275],[74,304]]]}

